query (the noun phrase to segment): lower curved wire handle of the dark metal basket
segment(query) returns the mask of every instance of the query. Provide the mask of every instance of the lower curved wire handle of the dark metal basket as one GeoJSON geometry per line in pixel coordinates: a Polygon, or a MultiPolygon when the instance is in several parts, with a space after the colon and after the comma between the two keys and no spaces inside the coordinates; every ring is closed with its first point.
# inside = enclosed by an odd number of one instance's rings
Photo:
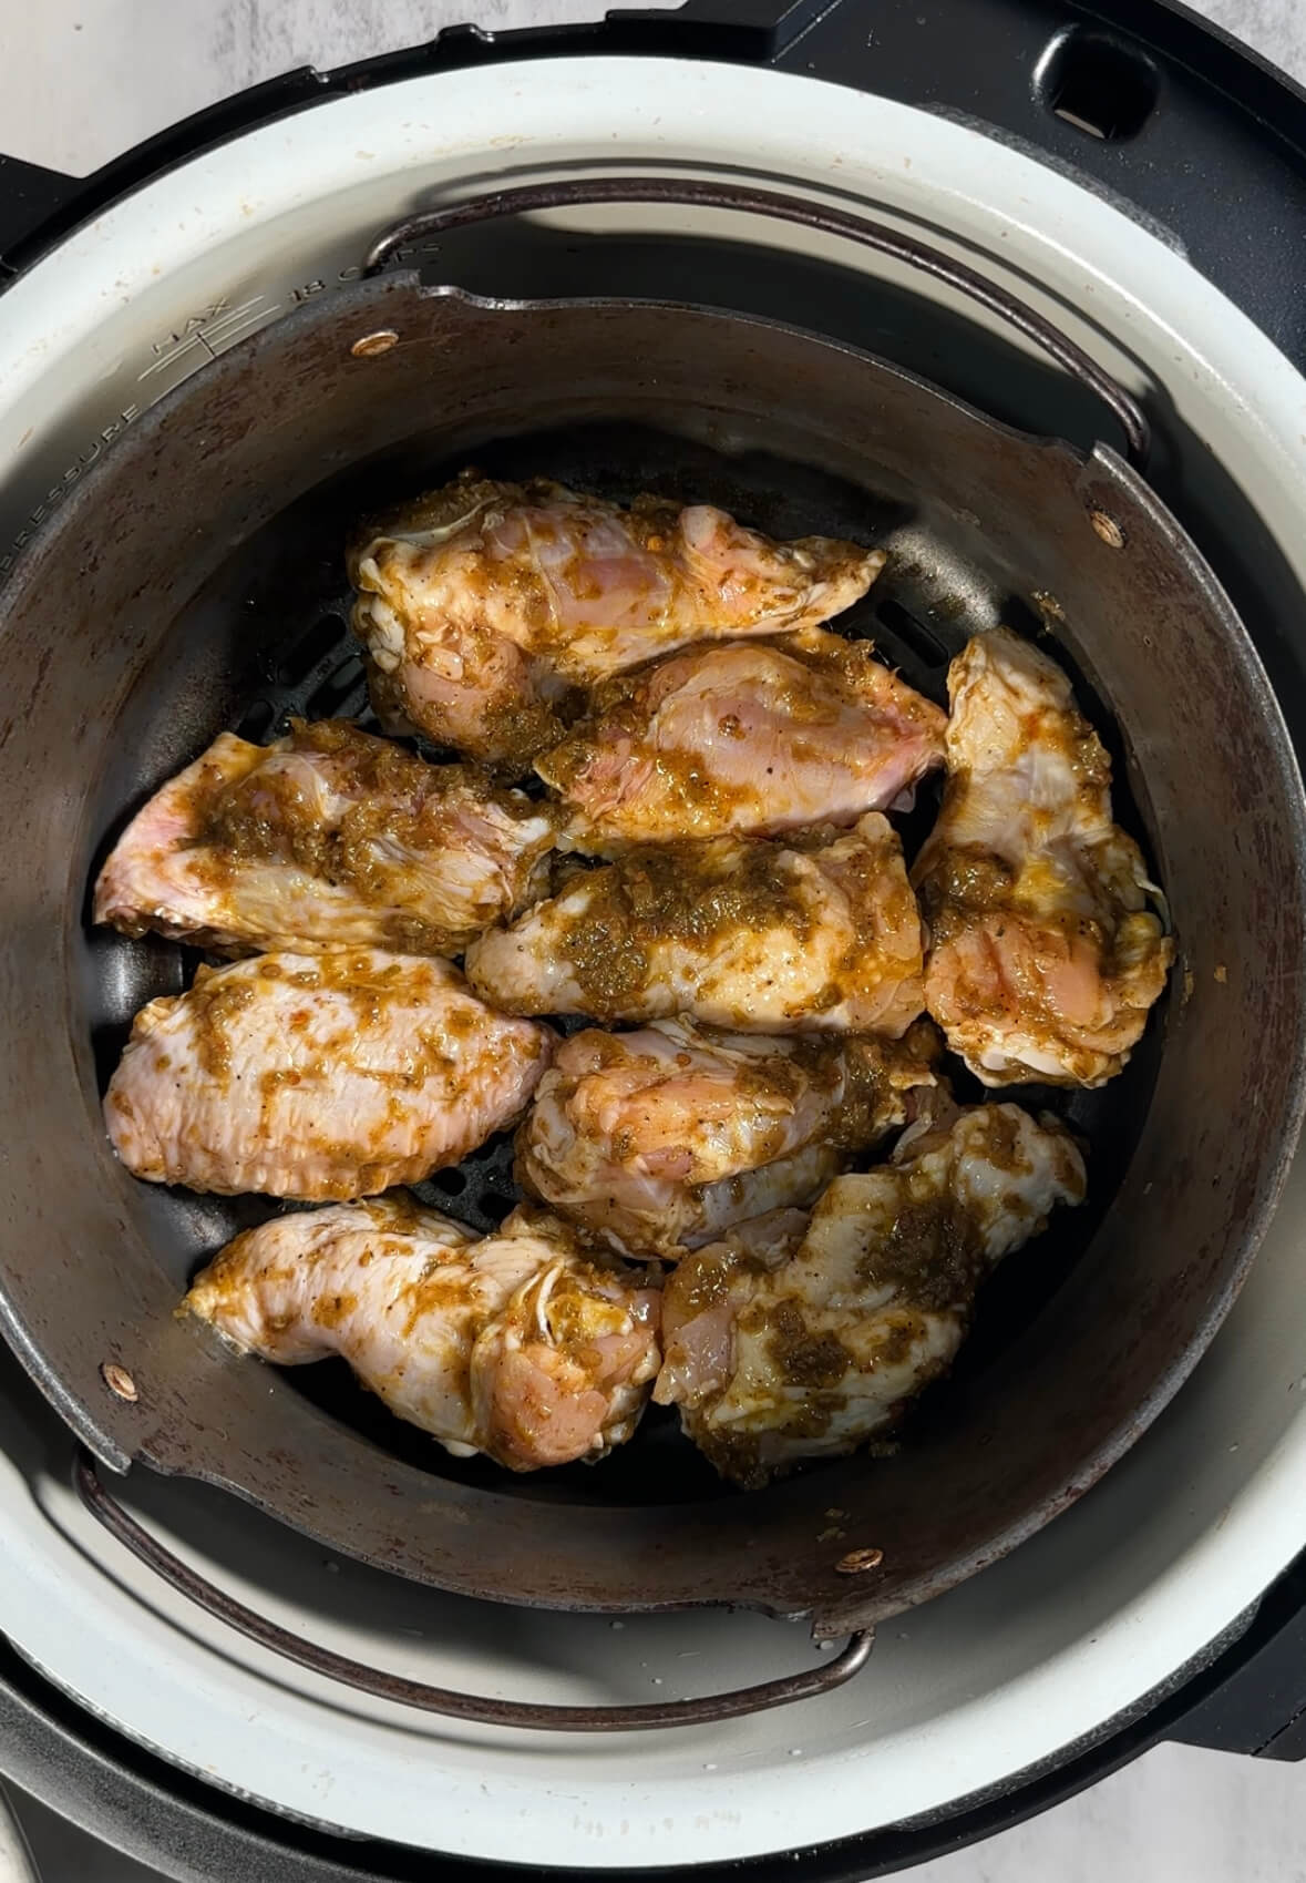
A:
{"type": "Polygon", "coordinates": [[[785,1674],[781,1680],[764,1680],[757,1687],[740,1687],[732,1693],[708,1693],[698,1700],[651,1700],[640,1706],[548,1706],[536,1700],[499,1700],[478,1693],[455,1693],[450,1687],[427,1687],[425,1682],[406,1680],[403,1674],[388,1674],[363,1661],[350,1661],[346,1655],[292,1634],[280,1623],[237,1602],[137,1523],[105,1488],[90,1452],[81,1448],[73,1465],[73,1486],[90,1516],[104,1523],[111,1537],[215,1621],[237,1629],[260,1648],[269,1648],[286,1661],[295,1661],[299,1666],[346,1687],[358,1687],[359,1693],[371,1693],[378,1700],[397,1700],[399,1706],[416,1706],[423,1714],[444,1714],[450,1719],[474,1719],[486,1727],[536,1727],[548,1732],[644,1732],[649,1727],[708,1727],[717,1719],[741,1719],[745,1714],[760,1714],[770,1706],[788,1706],[790,1700],[809,1700],[819,1693],[841,1687],[858,1668],[866,1666],[875,1640],[869,1629],[851,1634],[847,1646],[822,1666],[807,1668],[802,1674],[785,1674]]]}

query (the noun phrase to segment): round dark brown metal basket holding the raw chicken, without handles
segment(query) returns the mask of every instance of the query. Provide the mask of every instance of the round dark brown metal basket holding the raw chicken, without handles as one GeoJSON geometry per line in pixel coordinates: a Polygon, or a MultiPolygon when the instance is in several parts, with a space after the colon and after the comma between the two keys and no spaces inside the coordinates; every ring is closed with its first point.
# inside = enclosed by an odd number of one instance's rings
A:
{"type": "MultiPolygon", "coordinates": [[[[2,1305],[38,1380],[111,1463],[228,1484],[333,1548],[465,1593],[738,1601],[811,1610],[836,1633],[1056,1514],[1159,1410],[1233,1299],[1300,1105],[1300,789],[1236,620],[1108,456],[984,424],[785,330],[371,282],[147,414],[15,572],[0,659],[17,706],[0,748],[2,972],[19,1015],[4,1103],[23,1171],[2,1305]],[[352,356],[380,326],[399,345],[352,356]],[[292,712],[365,716],[344,533],[467,461],[708,499],[777,537],[888,542],[843,631],[939,700],[969,633],[1052,631],[1112,751],[1116,813],[1171,900],[1174,985],[1103,1092],[1011,1092],[1088,1139],[1090,1205],[1005,1263],[892,1457],[741,1495],[655,1414],[600,1467],[512,1478],[399,1425],[342,1365],[277,1375],[171,1312],[201,1256],[282,1205],[158,1190],[113,1162],[98,1094],[135,1009],[198,957],[90,932],[94,870],[224,727],[269,738],[292,712]],[[1093,531],[1093,508],[1123,548],[1093,531]],[[135,1403],[105,1392],[105,1361],[128,1367],[135,1403]],[[834,1565],[862,1546],[884,1561],[849,1585],[834,1565]]],[[[922,793],[909,849],[933,808],[922,793]]],[[[958,1088],[979,1090],[965,1075],[958,1088]]],[[[491,1228],[512,1205],[506,1139],[423,1194],[491,1228]]]]}

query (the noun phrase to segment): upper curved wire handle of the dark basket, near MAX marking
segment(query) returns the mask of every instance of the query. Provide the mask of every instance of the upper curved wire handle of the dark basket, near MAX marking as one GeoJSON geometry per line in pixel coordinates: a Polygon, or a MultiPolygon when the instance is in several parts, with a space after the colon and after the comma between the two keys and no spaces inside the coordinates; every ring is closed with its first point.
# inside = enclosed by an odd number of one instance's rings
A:
{"type": "Polygon", "coordinates": [[[1125,456],[1142,469],[1152,444],[1152,427],[1133,394],[1112,378],[1082,346],[1061,333],[1054,322],[1035,313],[1014,294],[999,288],[984,275],[954,262],[941,249],[903,235],[886,222],[873,222],[849,209],[834,209],[804,196],[785,196],[779,190],[755,190],[740,183],[709,183],[685,177],[591,177],[557,183],[529,183],[512,190],[493,190],[465,203],[427,209],[391,224],[373,241],[363,258],[363,277],[376,275],[397,249],[452,230],[491,222],[499,217],[521,217],[542,209],[578,209],[595,203],[670,203],[674,207],[732,209],[751,217],[772,217],[777,222],[796,222],[826,235],[843,235],[892,256],[907,267],[947,282],[967,299],[997,314],[1007,326],[1024,333],[1048,358],[1056,360],[1073,378],[1107,405],[1125,435],[1125,456]]]}

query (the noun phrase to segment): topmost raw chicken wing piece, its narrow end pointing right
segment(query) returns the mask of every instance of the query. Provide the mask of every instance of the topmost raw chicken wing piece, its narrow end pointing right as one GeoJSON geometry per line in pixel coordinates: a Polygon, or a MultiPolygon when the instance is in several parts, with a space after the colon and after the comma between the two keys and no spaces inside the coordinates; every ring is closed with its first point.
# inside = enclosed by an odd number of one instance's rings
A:
{"type": "Polygon", "coordinates": [[[691,640],[819,623],[866,593],[881,550],[770,542],[723,510],[465,475],[365,523],[348,554],[378,712],[525,766],[572,685],[691,640]]]}

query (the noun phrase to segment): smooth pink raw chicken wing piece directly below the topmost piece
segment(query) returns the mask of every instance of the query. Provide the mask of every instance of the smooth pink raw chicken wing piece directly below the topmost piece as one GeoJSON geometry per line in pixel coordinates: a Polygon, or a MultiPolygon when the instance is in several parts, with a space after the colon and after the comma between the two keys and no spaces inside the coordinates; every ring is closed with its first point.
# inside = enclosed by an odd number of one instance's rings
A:
{"type": "Polygon", "coordinates": [[[612,853],[854,823],[943,761],[945,725],[869,642],[811,627],[604,682],[534,768],[572,810],[570,842],[612,853]]]}

